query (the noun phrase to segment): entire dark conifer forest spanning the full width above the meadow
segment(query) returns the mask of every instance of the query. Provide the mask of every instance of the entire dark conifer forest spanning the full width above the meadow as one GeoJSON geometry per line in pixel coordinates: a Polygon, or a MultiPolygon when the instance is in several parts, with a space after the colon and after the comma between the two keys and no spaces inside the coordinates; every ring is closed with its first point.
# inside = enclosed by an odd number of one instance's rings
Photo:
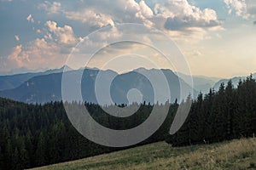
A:
{"type": "MultiPolygon", "coordinates": [[[[153,109],[153,105],[144,102],[134,115],[118,118],[106,114],[99,105],[85,103],[85,106],[97,122],[113,129],[137,127],[153,109]]],[[[252,137],[256,133],[253,77],[247,77],[237,88],[229,82],[226,87],[222,84],[217,92],[211,89],[205,96],[199,94],[192,101],[183,127],[171,136],[169,130],[177,107],[177,102],[170,105],[166,121],[141,144],[162,140],[173,146],[206,144],[252,137]]],[[[61,102],[27,105],[0,99],[0,169],[39,167],[122,149],[125,148],[109,148],[85,139],[69,122],[61,102]]]]}

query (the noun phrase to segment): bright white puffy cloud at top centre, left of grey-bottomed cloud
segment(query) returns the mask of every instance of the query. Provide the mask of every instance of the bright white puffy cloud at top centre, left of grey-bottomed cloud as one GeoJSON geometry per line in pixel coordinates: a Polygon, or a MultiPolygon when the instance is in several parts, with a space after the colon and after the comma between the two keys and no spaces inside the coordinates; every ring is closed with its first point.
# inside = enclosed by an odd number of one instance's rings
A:
{"type": "Polygon", "coordinates": [[[63,9],[63,14],[69,20],[79,20],[86,25],[103,27],[113,26],[115,22],[136,22],[152,26],[148,20],[154,16],[151,8],[144,1],[135,0],[89,1],[84,8],[76,11],[63,9]],[[100,5],[99,5],[100,4],[100,5]]]}

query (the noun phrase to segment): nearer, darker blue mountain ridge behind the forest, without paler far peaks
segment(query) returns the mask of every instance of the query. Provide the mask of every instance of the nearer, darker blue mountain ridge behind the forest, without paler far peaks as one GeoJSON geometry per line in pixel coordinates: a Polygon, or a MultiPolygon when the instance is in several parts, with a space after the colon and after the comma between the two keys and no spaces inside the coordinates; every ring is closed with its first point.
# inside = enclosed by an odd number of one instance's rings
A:
{"type": "MultiPolygon", "coordinates": [[[[77,77],[79,71],[67,71],[69,76],[77,77]]],[[[188,83],[179,79],[176,74],[170,70],[141,70],[145,71],[156,79],[160,72],[164,73],[166,80],[169,83],[172,101],[175,99],[184,99],[185,96],[180,96],[180,82],[183,84],[184,94],[198,94],[198,91],[192,89],[188,83]],[[179,82],[180,81],[180,82],[179,82]],[[192,89],[192,91],[191,91],[192,89]]],[[[49,73],[49,72],[48,72],[49,73]]],[[[81,91],[84,101],[97,103],[95,94],[96,76],[99,70],[85,69],[82,77],[81,91]]],[[[148,79],[137,71],[130,71],[119,75],[114,71],[102,71],[106,81],[110,75],[116,76],[111,84],[111,97],[116,104],[127,104],[128,99],[126,94],[131,88],[137,88],[143,94],[143,101],[154,103],[154,88],[148,79]]],[[[32,77],[21,83],[19,87],[0,91],[0,96],[8,99],[15,99],[26,103],[46,103],[50,101],[61,100],[61,78],[62,73],[50,73],[32,77]]],[[[165,92],[163,92],[165,93],[165,92]]],[[[104,98],[104,96],[102,96],[104,98]]]]}

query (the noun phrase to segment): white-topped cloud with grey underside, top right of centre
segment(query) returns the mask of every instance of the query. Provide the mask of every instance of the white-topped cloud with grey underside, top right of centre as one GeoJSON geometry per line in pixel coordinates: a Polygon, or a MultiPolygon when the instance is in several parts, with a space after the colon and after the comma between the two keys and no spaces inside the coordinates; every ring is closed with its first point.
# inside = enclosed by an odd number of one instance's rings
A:
{"type": "Polygon", "coordinates": [[[208,28],[221,25],[215,10],[201,10],[189,4],[187,0],[169,0],[165,4],[156,4],[154,12],[165,21],[165,28],[171,31],[188,31],[187,28],[191,27],[208,28]]]}

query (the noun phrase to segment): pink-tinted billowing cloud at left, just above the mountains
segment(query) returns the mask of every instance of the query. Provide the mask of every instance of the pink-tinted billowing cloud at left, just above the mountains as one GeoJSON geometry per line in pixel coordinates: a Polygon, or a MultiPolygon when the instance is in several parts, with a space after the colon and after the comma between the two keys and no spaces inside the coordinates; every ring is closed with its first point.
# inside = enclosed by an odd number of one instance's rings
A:
{"type": "MultiPolygon", "coordinates": [[[[73,46],[79,41],[73,33],[71,26],[58,26],[55,21],[47,21],[45,28],[40,31],[41,38],[31,42],[20,44],[12,49],[12,52],[2,57],[0,71],[8,71],[10,68],[26,67],[37,69],[39,67],[55,68],[64,65],[73,46]]],[[[18,41],[18,36],[15,35],[18,41]]]]}

